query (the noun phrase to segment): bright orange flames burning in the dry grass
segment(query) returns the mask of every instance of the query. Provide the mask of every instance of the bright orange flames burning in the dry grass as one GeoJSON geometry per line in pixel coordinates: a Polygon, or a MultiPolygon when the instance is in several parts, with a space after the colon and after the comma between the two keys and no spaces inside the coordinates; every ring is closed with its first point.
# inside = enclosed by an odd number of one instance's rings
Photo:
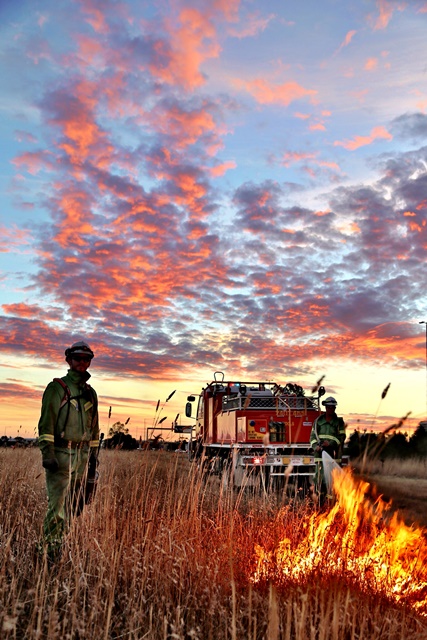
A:
{"type": "Polygon", "coordinates": [[[334,471],[333,483],[335,504],[305,515],[298,540],[290,532],[272,550],[255,546],[252,582],[341,578],[427,616],[425,532],[392,515],[381,499],[369,499],[369,483],[356,480],[350,470],[334,471]]]}

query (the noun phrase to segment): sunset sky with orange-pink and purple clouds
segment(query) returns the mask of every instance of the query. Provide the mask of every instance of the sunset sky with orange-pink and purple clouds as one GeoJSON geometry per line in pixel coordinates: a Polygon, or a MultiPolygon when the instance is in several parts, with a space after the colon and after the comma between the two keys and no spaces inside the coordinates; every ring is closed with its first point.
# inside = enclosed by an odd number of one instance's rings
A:
{"type": "Polygon", "coordinates": [[[217,370],[325,376],[349,431],[426,418],[426,0],[3,1],[0,25],[1,435],[34,435],[79,339],[104,431],[159,399],[170,424],[217,370]]]}

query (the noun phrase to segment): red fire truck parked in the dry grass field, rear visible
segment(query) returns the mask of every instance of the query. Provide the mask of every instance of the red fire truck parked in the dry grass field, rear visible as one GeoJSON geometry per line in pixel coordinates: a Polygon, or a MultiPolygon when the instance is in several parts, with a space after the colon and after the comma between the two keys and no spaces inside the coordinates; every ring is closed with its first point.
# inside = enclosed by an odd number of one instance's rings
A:
{"type": "Polygon", "coordinates": [[[302,387],[288,383],[214,380],[198,396],[188,396],[185,414],[195,418],[190,458],[200,457],[212,470],[230,470],[234,486],[287,479],[306,484],[314,474],[310,449],[313,422],[320,415],[320,397],[306,396],[302,387]]]}

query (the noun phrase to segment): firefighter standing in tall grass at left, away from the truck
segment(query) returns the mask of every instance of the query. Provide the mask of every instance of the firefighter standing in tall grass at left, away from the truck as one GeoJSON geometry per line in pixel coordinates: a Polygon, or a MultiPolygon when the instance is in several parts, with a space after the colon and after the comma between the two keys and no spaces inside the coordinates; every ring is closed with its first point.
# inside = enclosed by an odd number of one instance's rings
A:
{"type": "MultiPolygon", "coordinates": [[[[99,449],[98,398],[87,383],[94,353],[86,342],[65,351],[69,370],[50,382],[43,394],[38,443],[46,470],[48,509],[43,543],[48,557],[58,557],[74,515],[90,501],[99,449]],[[89,482],[88,482],[89,480],[89,482]]],[[[43,545],[43,546],[44,546],[43,545]]]]}

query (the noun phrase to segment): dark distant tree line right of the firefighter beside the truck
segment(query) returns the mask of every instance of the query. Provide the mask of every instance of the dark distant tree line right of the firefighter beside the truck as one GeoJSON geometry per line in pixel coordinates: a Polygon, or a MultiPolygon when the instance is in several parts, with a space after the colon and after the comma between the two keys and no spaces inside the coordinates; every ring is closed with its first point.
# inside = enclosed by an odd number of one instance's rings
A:
{"type": "Polygon", "coordinates": [[[354,431],[345,446],[345,452],[351,459],[360,456],[388,458],[413,458],[427,456],[426,423],[420,423],[411,436],[395,431],[393,433],[375,433],[354,431]]]}

